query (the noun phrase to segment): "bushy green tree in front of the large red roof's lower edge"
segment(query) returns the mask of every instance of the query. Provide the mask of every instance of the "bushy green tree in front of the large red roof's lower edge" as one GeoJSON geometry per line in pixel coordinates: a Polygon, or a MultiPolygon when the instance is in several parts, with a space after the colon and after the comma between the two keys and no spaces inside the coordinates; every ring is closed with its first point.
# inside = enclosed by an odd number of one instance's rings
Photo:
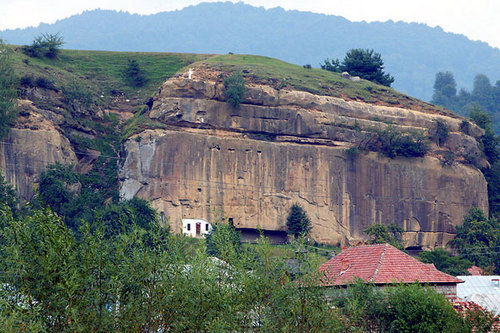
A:
{"type": "Polygon", "coordinates": [[[467,332],[450,302],[420,284],[381,289],[357,280],[332,298],[346,332],[467,332]]]}

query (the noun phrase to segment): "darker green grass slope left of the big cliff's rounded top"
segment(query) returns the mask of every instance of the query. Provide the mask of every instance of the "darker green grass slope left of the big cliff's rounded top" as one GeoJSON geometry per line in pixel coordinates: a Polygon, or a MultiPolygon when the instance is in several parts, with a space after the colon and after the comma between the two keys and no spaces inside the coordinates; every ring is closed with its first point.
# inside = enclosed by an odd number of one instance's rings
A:
{"type": "Polygon", "coordinates": [[[63,88],[71,80],[81,80],[99,96],[122,92],[135,98],[152,95],[168,77],[190,63],[207,59],[210,55],[188,53],[146,53],[61,50],[56,59],[30,58],[13,48],[14,69],[19,77],[45,76],[55,87],[63,88]],[[127,83],[124,72],[128,60],[135,60],[147,79],[142,87],[127,83]]]}

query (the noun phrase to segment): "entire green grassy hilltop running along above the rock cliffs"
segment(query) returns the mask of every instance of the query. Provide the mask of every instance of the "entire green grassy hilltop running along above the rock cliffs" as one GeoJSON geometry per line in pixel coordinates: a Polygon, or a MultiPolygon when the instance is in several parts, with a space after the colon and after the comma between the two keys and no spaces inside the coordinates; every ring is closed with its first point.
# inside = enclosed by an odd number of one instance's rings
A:
{"type": "Polygon", "coordinates": [[[442,108],[369,81],[353,82],[342,79],[338,73],[304,68],[269,57],[61,50],[56,59],[49,59],[30,58],[19,47],[13,49],[14,69],[19,78],[47,78],[60,90],[64,90],[74,80],[85,82],[96,102],[102,105],[107,105],[110,96],[116,94],[125,95],[131,100],[131,105],[138,105],[152,96],[161,83],[175,73],[186,70],[189,65],[201,65],[227,73],[240,70],[245,79],[272,86],[278,84],[280,88],[366,103],[446,112],[442,108]],[[146,78],[141,87],[127,83],[124,73],[129,60],[137,62],[146,78]]]}

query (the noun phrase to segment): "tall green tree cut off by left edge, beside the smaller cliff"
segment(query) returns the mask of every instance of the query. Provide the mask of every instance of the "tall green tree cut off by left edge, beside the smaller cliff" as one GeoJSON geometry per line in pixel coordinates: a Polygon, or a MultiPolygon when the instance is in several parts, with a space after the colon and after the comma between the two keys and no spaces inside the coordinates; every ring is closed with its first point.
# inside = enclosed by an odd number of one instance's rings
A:
{"type": "Polygon", "coordinates": [[[17,116],[16,77],[10,55],[11,49],[0,39],[0,139],[7,135],[17,116]]]}

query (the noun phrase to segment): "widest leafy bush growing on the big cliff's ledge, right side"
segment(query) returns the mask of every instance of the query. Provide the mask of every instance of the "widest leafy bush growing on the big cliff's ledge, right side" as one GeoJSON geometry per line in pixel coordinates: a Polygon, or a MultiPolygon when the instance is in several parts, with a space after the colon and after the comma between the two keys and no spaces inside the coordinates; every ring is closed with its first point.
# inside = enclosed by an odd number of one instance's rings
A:
{"type": "Polygon", "coordinates": [[[422,157],[429,151],[429,140],[421,132],[401,133],[389,126],[378,133],[380,151],[387,157],[422,157]]]}

